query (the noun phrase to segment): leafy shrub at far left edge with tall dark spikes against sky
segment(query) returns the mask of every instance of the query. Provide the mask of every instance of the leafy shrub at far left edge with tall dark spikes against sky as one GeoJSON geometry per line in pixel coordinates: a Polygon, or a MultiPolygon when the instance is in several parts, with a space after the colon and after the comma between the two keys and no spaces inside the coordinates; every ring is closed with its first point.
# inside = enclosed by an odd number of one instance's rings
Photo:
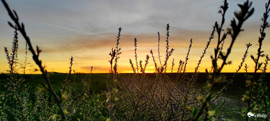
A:
{"type": "MultiPolygon", "coordinates": [[[[15,25],[16,26],[16,25],[15,25]]],[[[12,54],[9,55],[8,49],[5,47],[5,53],[8,60],[10,70],[7,70],[8,78],[3,86],[6,88],[0,97],[1,102],[1,119],[3,120],[29,120],[31,115],[31,100],[29,98],[29,84],[23,84],[25,81],[16,69],[18,57],[18,33],[17,29],[14,31],[14,38],[12,42],[12,54]]]]}

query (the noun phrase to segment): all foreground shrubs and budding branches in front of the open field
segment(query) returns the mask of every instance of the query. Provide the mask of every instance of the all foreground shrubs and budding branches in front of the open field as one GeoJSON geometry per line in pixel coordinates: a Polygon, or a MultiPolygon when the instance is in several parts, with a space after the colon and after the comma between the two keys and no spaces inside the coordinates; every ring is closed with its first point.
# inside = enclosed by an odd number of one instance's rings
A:
{"type": "MultiPolygon", "coordinates": [[[[225,0],[224,5],[220,6],[219,13],[222,15],[221,23],[215,22],[213,30],[210,34],[209,41],[203,50],[202,56],[198,60],[198,64],[194,69],[194,73],[191,77],[188,77],[186,73],[186,66],[188,63],[188,56],[190,54],[190,49],[192,47],[192,38],[190,40],[190,45],[187,51],[187,56],[184,60],[179,61],[176,77],[172,77],[173,66],[175,65],[174,59],[172,61],[171,73],[169,72],[168,63],[169,58],[174,52],[173,48],[169,48],[169,29],[170,26],[167,24],[166,27],[166,54],[164,62],[161,62],[160,55],[160,34],[158,32],[158,56],[155,57],[152,50],[150,50],[150,56],[146,55],[146,59],[137,60],[137,38],[134,38],[134,57],[135,61],[130,59],[130,65],[133,70],[133,75],[129,76],[128,79],[124,79],[117,72],[117,60],[120,58],[121,48],[120,44],[120,32],[121,27],[118,29],[118,36],[116,42],[116,49],[112,49],[110,52],[111,60],[110,62],[110,72],[107,80],[107,91],[101,94],[95,94],[90,92],[90,81],[92,76],[91,73],[82,79],[81,83],[83,88],[80,92],[77,92],[76,85],[72,85],[70,82],[70,75],[72,72],[73,57],[70,59],[69,73],[62,84],[62,88],[53,89],[49,80],[49,73],[42,66],[42,62],[39,59],[39,54],[41,50],[37,47],[36,51],[33,50],[30,39],[25,32],[23,24],[19,23],[18,16],[15,11],[11,11],[7,3],[2,0],[8,13],[12,20],[15,22],[15,26],[9,25],[15,29],[14,42],[12,47],[12,54],[8,54],[8,49],[5,48],[5,53],[8,59],[10,70],[9,78],[6,79],[4,86],[6,91],[1,94],[1,119],[2,120],[212,120],[214,116],[224,114],[222,112],[222,107],[224,106],[225,100],[221,103],[215,104],[215,100],[221,97],[222,92],[226,90],[229,84],[234,80],[238,71],[241,69],[245,62],[248,54],[248,48],[252,44],[246,44],[247,50],[242,58],[242,62],[232,79],[225,85],[220,91],[214,93],[213,87],[220,82],[225,80],[225,76],[220,72],[225,65],[231,62],[227,61],[228,56],[231,53],[232,46],[238,36],[242,31],[241,27],[245,20],[250,17],[254,11],[251,8],[251,2],[244,2],[243,5],[238,5],[240,7],[239,12],[234,12],[237,20],[231,20],[230,28],[223,32],[223,24],[225,22],[224,16],[226,10],[228,9],[228,3],[225,0]],[[33,54],[33,59],[39,66],[42,76],[45,78],[45,83],[42,87],[38,88],[35,92],[35,98],[30,99],[30,93],[27,91],[29,86],[22,86],[23,78],[20,78],[16,74],[16,51],[18,49],[18,33],[19,30],[23,37],[25,38],[29,50],[33,54]],[[201,89],[195,88],[194,85],[198,80],[198,67],[200,67],[201,60],[206,54],[211,40],[214,38],[214,34],[217,33],[217,47],[214,49],[214,55],[211,56],[212,67],[210,71],[207,69],[204,87],[201,89]],[[231,36],[231,44],[227,49],[227,52],[223,52],[223,43],[227,36],[231,36]],[[149,63],[149,59],[152,57],[155,66],[155,77],[150,78],[146,76],[145,70],[149,63]],[[158,59],[157,59],[158,58],[158,59]],[[218,63],[220,61],[221,63],[218,63]],[[114,61],[114,64],[113,64],[114,61]],[[135,64],[136,63],[136,64],[135,64]],[[21,89],[21,90],[19,90],[21,89]],[[13,94],[10,97],[7,94],[13,94]],[[106,99],[104,99],[106,97],[106,99]],[[12,115],[12,117],[8,117],[12,115]]],[[[261,26],[261,37],[259,38],[259,49],[258,57],[251,58],[255,62],[255,72],[260,69],[262,63],[259,63],[259,57],[264,57],[262,54],[261,45],[262,40],[265,37],[264,29],[268,26],[266,19],[268,17],[268,4],[266,4],[266,12],[263,17],[263,25],[261,26]]],[[[27,45],[26,45],[27,48],[27,45]]],[[[26,49],[27,50],[27,49],[26,49]]],[[[27,52],[26,52],[27,54],[27,52]]],[[[25,58],[27,58],[25,56],[25,58]]],[[[251,111],[252,108],[259,109],[260,112],[268,114],[267,109],[269,108],[268,101],[268,87],[266,86],[266,79],[264,79],[264,74],[266,72],[266,66],[268,64],[269,57],[266,56],[264,62],[264,68],[262,76],[258,80],[259,87],[258,92],[262,97],[253,97],[255,84],[255,77],[248,76],[247,86],[250,90],[246,92],[243,100],[248,101],[248,108],[244,109],[244,115],[251,111]],[[253,100],[254,98],[254,100],[253,100]],[[255,101],[260,102],[259,106],[255,105],[255,101]]],[[[25,72],[25,67],[28,63],[22,65],[23,71],[25,72]]],[[[245,65],[245,70],[247,71],[247,65],[245,65]]],[[[73,70],[73,72],[75,72],[73,70]]],[[[269,114],[268,114],[269,115],[269,114]]],[[[229,119],[228,119],[229,120],[229,119]]],[[[248,116],[246,116],[246,120],[248,116]]],[[[259,119],[258,119],[259,120],[259,119]]],[[[268,118],[266,119],[268,120],[268,118]]]]}

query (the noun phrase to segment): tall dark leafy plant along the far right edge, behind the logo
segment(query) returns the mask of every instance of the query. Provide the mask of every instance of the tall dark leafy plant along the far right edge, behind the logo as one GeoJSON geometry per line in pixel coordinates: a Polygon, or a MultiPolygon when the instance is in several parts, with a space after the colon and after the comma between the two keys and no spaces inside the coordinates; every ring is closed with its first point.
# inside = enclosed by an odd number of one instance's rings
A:
{"type": "MultiPolygon", "coordinates": [[[[249,87],[249,90],[243,95],[243,101],[247,100],[248,102],[248,106],[247,108],[244,108],[243,110],[243,116],[246,117],[246,120],[248,121],[249,120],[249,117],[248,115],[246,115],[248,112],[250,112],[252,109],[257,109],[257,104],[255,103],[254,99],[257,100],[258,102],[260,102],[260,105],[259,105],[259,110],[260,110],[260,113],[265,113],[265,115],[270,115],[270,113],[267,112],[267,107],[269,107],[269,101],[267,100],[268,98],[268,95],[269,93],[265,92],[265,90],[267,90],[267,86],[266,86],[266,80],[263,79],[264,78],[264,72],[265,72],[265,69],[266,69],[266,65],[268,64],[268,56],[266,56],[266,60],[265,60],[265,68],[262,69],[262,74],[261,74],[261,77],[259,78],[258,81],[256,81],[256,77],[255,77],[255,74],[258,70],[261,70],[261,66],[262,66],[262,62],[259,62],[259,58],[260,57],[264,57],[265,55],[263,54],[264,51],[261,51],[261,47],[262,47],[262,41],[264,40],[265,38],[265,32],[264,30],[269,27],[269,23],[266,22],[267,18],[268,18],[268,13],[270,11],[269,9],[269,4],[270,4],[270,1],[268,1],[267,3],[265,3],[265,13],[263,14],[261,20],[263,21],[262,25],[260,26],[260,34],[261,36],[259,37],[259,48],[258,48],[258,53],[257,53],[257,58],[254,58],[253,55],[251,55],[251,59],[254,61],[255,63],[255,70],[254,70],[254,73],[253,75],[247,75],[247,87],[249,87]],[[259,87],[258,87],[258,90],[259,90],[259,95],[260,97],[255,97],[253,96],[253,93],[254,93],[254,90],[255,90],[255,85],[257,85],[259,83],[259,87]],[[261,99],[262,98],[262,99],[261,99]]],[[[246,65],[247,66],[247,65],[246,65]]],[[[245,69],[247,71],[247,67],[245,69]]],[[[269,118],[266,117],[266,118],[257,118],[258,120],[259,119],[262,119],[262,120],[268,120],[269,118]]]]}

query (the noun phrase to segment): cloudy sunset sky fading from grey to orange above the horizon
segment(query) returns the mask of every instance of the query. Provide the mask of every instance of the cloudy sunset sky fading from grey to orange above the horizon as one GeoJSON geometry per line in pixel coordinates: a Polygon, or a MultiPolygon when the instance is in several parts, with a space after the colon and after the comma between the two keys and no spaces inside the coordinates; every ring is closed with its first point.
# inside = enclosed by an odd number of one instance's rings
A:
{"type": "MultiPolygon", "coordinates": [[[[249,66],[248,72],[254,72],[255,63],[250,55],[256,55],[258,49],[259,29],[262,24],[261,17],[265,12],[266,0],[252,2],[255,11],[245,21],[237,40],[232,48],[228,60],[231,65],[226,65],[222,72],[235,72],[242,61],[245,53],[245,44],[251,43],[248,57],[245,61],[249,66]]],[[[118,28],[121,27],[121,39],[118,47],[122,54],[118,61],[118,72],[129,73],[132,68],[129,59],[135,62],[134,38],[137,38],[138,61],[144,60],[153,50],[155,59],[158,56],[158,32],[160,33],[160,54],[164,63],[166,54],[166,24],[169,23],[169,48],[174,48],[172,56],[168,60],[168,72],[171,72],[172,60],[174,59],[173,72],[177,71],[180,59],[185,60],[190,39],[193,44],[188,56],[187,72],[194,72],[198,60],[202,55],[207,41],[209,40],[212,26],[217,21],[221,23],[221,14],[218,8],[223,4],[222,0],[8,0],[8,5],[14,9],[19,21],[25,25],[26,32],[32,45],[42,50],[40,59],[49,72],[67,73],[70,66],[70,58],[73,56],[73,70],[80,73],[109,73],[109,53],[116,47],[118,28]]],[[[225,14],[224,29],[229,28],[233,12],[239,10],[237,4],[244,0],[228,0],[228,10],[225,14]]],[[[6,72],[8,63],[5,57],[4,47],[11,50],[14,29],[8,25],[11,19],[3,4],[0,4],[0,72],[6,72]],[[1,49],[0,49],[1,50],[1,49]]],[[[11,21],[12,22],[12,21],[11,21]]],[[[13,22],[12,22],[13,23],[13,22]]],[[[264,54],[270,52],[270,29],[266,29],[266,37],[263,41],[264,54]]],[[[19,33],[18,62],[25,61],[25,40],[19,33]]],[[[224,43],[227,50],[231,42],[228,36],[224,43]]],[[[210,70],[211,58],[214,47],[217,46],[217,34],[211,40],[207,53],[199,67],[200,72],[210,70]]],[[[30,51],[27,62],[34,65],[26,73],[40,73],[32,59],[30,51]]],[[[146,72],[154,72],[154,62],[151,57],[146,72]]],[[[261,59],[264,61],[265,58],[261,59]]],[[[219,65],[221,63],[219,62],[219,65]]],[[[18,67],[17,67],[18,68],[18,67]]],[[[18,70],[21,73],[21,69],[18,70]]],[[[242,68],[240,72],[245,72],[242,68]]]]}

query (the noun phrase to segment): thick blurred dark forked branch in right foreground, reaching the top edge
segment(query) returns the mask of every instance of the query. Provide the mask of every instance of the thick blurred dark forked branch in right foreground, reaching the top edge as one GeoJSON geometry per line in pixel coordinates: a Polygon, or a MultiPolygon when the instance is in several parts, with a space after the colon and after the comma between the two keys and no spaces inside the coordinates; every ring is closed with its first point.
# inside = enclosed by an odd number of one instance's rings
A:
{"type": "MultiPolygon", "coordinates": [[[[230,24],[231,28],[228,29],[227,32],[223,34],[222,38],[221,38],[221,30],[222,30],[222,26],[225,22],[224,15],[225,15],[226,10],[228,9],[227,1],[225,0],[224,5],[222,5],[220,7],[221,9],[220,9],[219,13],[221,13],[221,15],[222,15],[222,22],[221,22],[221,26],[219,26],[216,22],[216,30],[218,33],[218,44],[217,44],[217,47],[215,48],[214,57],[211,56],[212,65],[213,65],[214,70],[213,70],[213,73],[211,75],[208,74],[208,77],[210,78],[209,90],[208,90],[209,92],[204,97],[204,99],[201,99],[202,104],[201,104],[200,110],[197,111],[196,108],[193,109],[193,111],[192,111],[193,116],[192,117],[193,117],[194,121],[201,120],[201,115],[203,113],[205,113],[203,120],[208,120],[208,119],[212,118],[217,113],[217,111],[214,111],[214,112],[209,111],[208,105],[209,105],[211,97],[212,97],[212,88],[213,88],[215,83],[224,80],[224,76],[220,76],[220,72],[225,65],[231,63],[231,62],[226,62],[226,60],[228,58],[228,55],[231,52],[232,45],[234,44],[234,41],[236,40],[237,35],[241,31],[242,24],[254,12],[254,8],[249,10],[251,8],[251,4],[252,3],[249,3],[248,1],[244,2],[243,5],[238,4],[238,6],[240,7],[241,10],[239,12],[234,12],[235,17],[238,19],[238,23],[235,21],[235,19],[231,20],[231,24],[230,24]],[[220,46],[221,42],[226,38],[227,34],[231,35],[232,40],[231,40],[231,44],[227,50],[227,53],[225,54],[225,53],[219,51],[220,50],[219,46],[220,46]],[[218,54],[219,54],[219,56],[218,56],[218,54]],[[217,66],[217,59],[218,58],[221,58],[223,60],[221,66],[219,66],[219,67],[217,66]]],[[[206,73],[208,73],[207,70],[206,70],[206,73]]]]}

